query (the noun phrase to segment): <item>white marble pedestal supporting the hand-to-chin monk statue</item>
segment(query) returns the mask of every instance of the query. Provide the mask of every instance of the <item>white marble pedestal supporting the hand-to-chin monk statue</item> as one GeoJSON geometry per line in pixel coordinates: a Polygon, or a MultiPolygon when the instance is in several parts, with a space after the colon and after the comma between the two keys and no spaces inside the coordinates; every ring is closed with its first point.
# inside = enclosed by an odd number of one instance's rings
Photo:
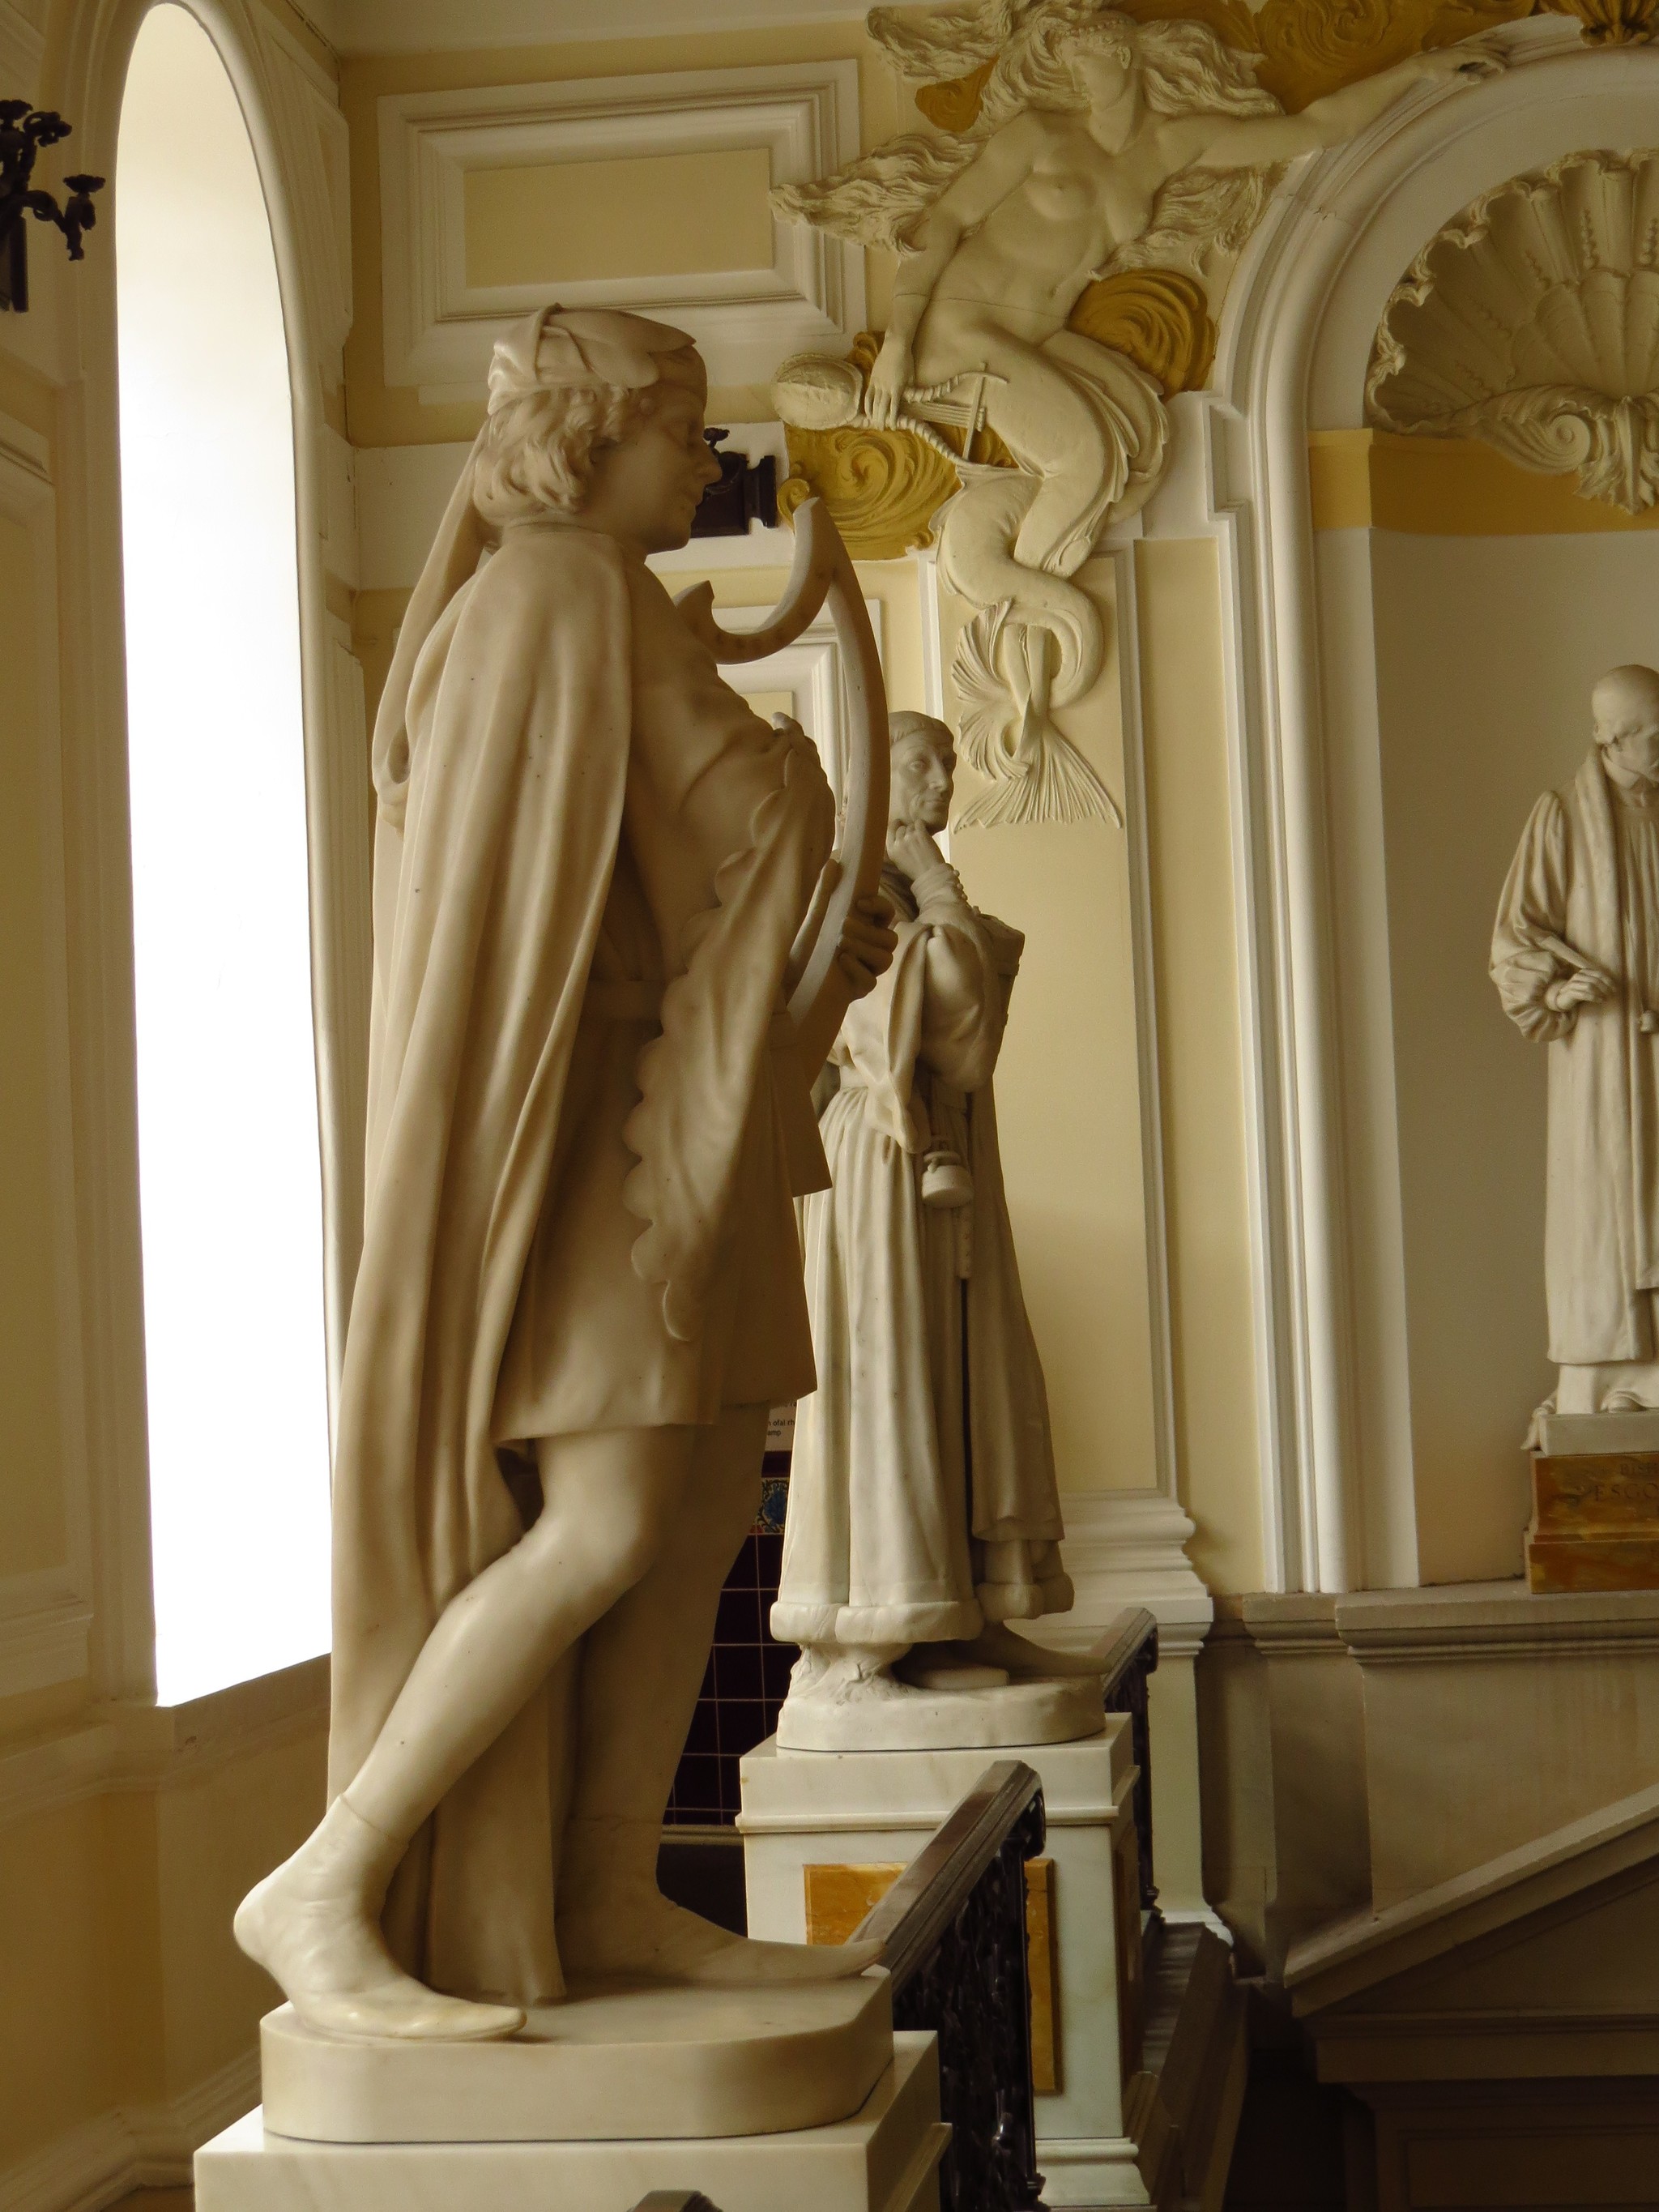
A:
{"type": "MultiPolygon", "coordinates": [[[[750,1936],[803,1942],[810,1865],[909,1863],[993,1759],[1042,1776],[1057,1933],[1057,2090],[1037,2095],[1037,2166],[1051,2205],[1146,2205],[1124,2084],[1139,2068],[1139,1878],[1130,1723],[998,1752],[781,1752],[741,1765],[750,1936]]],[[[719,2199],[717,2199],[719,2201],[719,2199]]]]}

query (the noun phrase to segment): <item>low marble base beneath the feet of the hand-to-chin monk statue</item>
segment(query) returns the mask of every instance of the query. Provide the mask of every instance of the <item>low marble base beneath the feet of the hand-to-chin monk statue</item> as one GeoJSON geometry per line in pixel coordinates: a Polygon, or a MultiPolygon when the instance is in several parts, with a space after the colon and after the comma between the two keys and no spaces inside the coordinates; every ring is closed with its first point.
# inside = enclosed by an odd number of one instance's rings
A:
{"type": "Polygon", "coordinates": [[[787,1697],[776,1741],[781,1752],[989,1752],[1075,1743],[1104,1725],[1099,1674],[998,1690],[911,1690],[883,1679],[874,1692],[787,1697]]]}

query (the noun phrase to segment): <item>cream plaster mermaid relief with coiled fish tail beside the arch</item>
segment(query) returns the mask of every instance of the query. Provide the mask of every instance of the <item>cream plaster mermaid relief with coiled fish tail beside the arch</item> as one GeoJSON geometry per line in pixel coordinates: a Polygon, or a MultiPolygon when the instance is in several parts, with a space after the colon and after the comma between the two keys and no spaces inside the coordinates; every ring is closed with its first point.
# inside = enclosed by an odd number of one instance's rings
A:
{"type": "Polygon", "coordinates": [[[1469,84],[1500,62],[1473,44],[1418,53],[1285,115],[1206,24],[1141,24],[1102,0],[878,7],[867,22],[902,77],[978,80],[978,108],[956,135],[898,137],[772,195],[900,254],[869,376],[801,356],[774,398],[803,429],[927,436],[931,416],[1002,440],[1015,467],[958,462],[938,535],[942,580],[978,608],[953,681],[962,752],[991,787],[962,823],[1115,816],[1053,710],[1091,690],[1104,653],[1071,577],[1157,487],[1168,416],[1144,369],[1068,327],[1073,310],[1121,270],[1203,272],[1243,246],[1281,164],[1343,144],[1422,80],[1469,84]]]}

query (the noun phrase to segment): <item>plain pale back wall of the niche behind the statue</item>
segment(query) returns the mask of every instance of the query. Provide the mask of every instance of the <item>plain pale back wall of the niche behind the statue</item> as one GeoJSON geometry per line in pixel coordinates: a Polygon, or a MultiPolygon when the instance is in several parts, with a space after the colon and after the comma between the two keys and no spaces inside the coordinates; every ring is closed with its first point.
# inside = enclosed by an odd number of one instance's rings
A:
{"type": "MultiPolygon", "coordinates": [[[[1579,502],[1584,504],[1584,502],[1579,502]]],[[[1486,973],[1604,668],[1659,659],[1659,538],[1371,538],[1422,1582],[1515,1575],[1544,1327],[1544,1066],[1486,973]]]]}

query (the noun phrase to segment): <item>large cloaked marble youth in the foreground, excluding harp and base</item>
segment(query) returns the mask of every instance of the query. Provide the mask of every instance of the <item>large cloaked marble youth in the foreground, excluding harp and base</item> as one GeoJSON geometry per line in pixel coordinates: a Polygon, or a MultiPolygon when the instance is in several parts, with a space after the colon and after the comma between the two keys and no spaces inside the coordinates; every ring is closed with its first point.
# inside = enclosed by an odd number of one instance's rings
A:
{"type": "Polygon", "coordinates": [[[783,1009],[832,796],[646,568],[717,473],[703,396],[684,332],[515,325],[380,703],[332,1803],[237,1916],[323,2031],[869,1960],[655,1878],[765,1409],[814,1380],[792,1194],[825,1175],[783,1009]]]}

